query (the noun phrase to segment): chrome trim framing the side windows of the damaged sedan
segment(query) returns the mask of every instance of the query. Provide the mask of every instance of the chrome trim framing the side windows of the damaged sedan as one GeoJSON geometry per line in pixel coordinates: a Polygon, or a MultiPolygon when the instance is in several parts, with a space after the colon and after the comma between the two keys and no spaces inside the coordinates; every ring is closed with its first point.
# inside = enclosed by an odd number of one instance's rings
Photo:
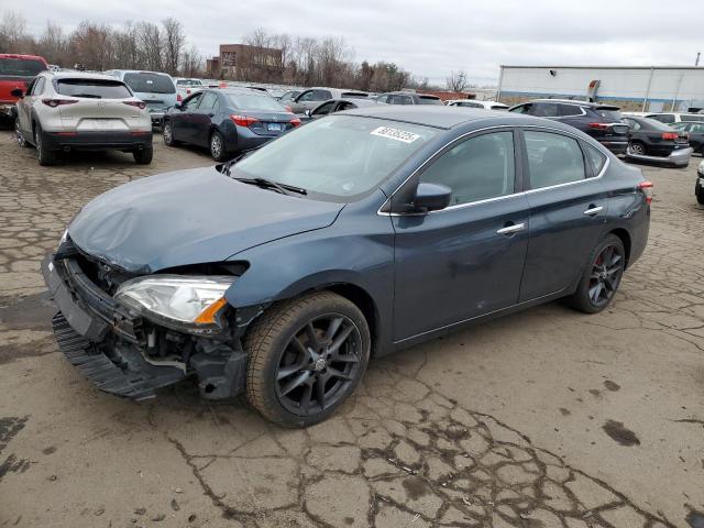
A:
{"type": "MultiPolygon", "coordinates": [[[[394,197],[394,195],[396,193],[398,193],[398,190],[404,185],[406,185],[410,178],[416,176],[416,174],[418,174],[418,172],[421,170],[435,156],[437,156],[440,152],[442,152],[444,148],[450,146],[452,143],[458,142],[458,141],[462,140],[463,138],[466,138],[468,135],[475,134],[477,132],[484,132],[484,131],[487,131],[487,130],[501,130],[501,129],[519,129],[521,131],[524,131],[526,129],[548,130],[548,131],[558,132],[558,133],[561,133],[561,134],[564,134],[564,135],[569,135],[572,139],[576,140],[578,142],[580,140],[584,141],[583,138],[580,138],[576,134],[573,134],[571,131],[556,129],[554,127],[539,125],[539,124],[526,124],[526,125],[520,125],[520,124],[518,124],[518,125],[516,125],[516,124],[499,124],[499,125],[496,125],[496,127],[486,127],[484,129],[476,129],[476,130],[473,130],[471,132],[466,132],[466,133],[455,138],[454,140],[449,141],[444,145],[442,145],[440,148],[438,148],[436,152],[433,152],[432,155],[430,155],[428,157],[428,160],[422,162],[420,164],[420,166],[418,166],[418,168],[416,168],[406,179],[404,179],[404,182],[402,182],[402,184],[398,187],[396,187],[396,189],[389,195],[389,197],[386,198],[386,200],[384,200],[384,204],[382,204],[382,206],[376,210],[376,215],[378,215],[381,217],[419,217],[419,216],[435,215],[435,213],[444,212],[444,211],[451,211],[451,210],[455,210],[455,209],[463,209],[465,207],[471,207],[471,206],[480,206],[480,205],[488,204],[488,202],[492,202],[492,201],[505,200],[505,199],[512,198],[512,197],[525,196],[525,195],[530,195],[530,194],[534,194],[534,193],[541,193],[543,190],[557,189],[557,188],[566,187],[566,186],[570,186],[570,185],[585,184],[587,182],[593,182],[593,180],[596,180],[596,179],[601,179],[604,176],[604,174],[606,173],[606,169],[608,168],[608,166],[610,164],[610,161],[612,161],[610,156],[605,154],[606,155],[606,163],[604,163],[604,166],[602,167],[600,173],[596,176],[592,176],[591,178],[578,179],[575,182],[566,182],[564,184],[557,184],[557,185],[551,185],[551,186],[548,186],[548,187],[540,187],[538,189],[521,190],[520,193],[512,193],[510,195],[502,195],[502,196],[496,196],[494,198],[485,198],[483,200],[468,201],[466,204],[458,204],[455,206],[448,206],[444,209],[440,209],[440,210],[437,210],[437,211],[428,211],[428,212],[383,212],[382,211],[382,209],[384,209],[386,204],[388,204],[388,201],[394,197]]],[[[592,146],[594,146],[594,145],[592,145],[592,146]]],[[[586,168],[586,166],[585,166],[585,168],[586,168]]]]}

